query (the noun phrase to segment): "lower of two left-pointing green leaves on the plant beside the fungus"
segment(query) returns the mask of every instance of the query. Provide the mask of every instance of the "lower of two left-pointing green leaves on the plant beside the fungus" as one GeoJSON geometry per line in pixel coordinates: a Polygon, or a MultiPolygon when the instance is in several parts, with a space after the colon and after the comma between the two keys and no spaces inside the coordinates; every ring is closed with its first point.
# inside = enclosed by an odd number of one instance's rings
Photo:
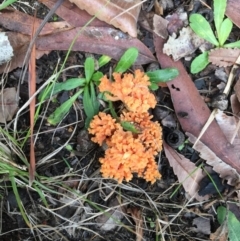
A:
{"type": "Polygon", "coordinates": [[[83,92],[83,89],[79,90],[75,95],[73,95],[70,99],[65,101],[62,105],[60,105],[47,119],[48,123],[51,125],[57,125],[69,112],[72,107],[74,101],[78,98],[78,96],[83,92]]]}

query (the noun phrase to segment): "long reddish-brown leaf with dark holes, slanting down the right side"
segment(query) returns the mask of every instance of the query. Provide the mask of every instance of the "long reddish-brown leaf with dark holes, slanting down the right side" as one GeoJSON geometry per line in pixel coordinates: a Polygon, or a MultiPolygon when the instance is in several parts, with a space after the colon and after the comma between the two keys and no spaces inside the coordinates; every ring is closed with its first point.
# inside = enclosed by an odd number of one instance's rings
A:
{"type": "MultiPolygon", "coordinates": [[[[164,39],[154,35],[154,45],[162,68],[177,68],[179,75],[167,82],[174,109],[182,129],[185,132],[199,136],[211,112],[199,95],[193,81],[180,61],[174,62],[162,53],[164,39]]],[[[216,121],[213,121],[201,137],[201,141],[212,150],[223,162],[232,166],[240,173],[240,153],[229,144],[216,121]]]]}

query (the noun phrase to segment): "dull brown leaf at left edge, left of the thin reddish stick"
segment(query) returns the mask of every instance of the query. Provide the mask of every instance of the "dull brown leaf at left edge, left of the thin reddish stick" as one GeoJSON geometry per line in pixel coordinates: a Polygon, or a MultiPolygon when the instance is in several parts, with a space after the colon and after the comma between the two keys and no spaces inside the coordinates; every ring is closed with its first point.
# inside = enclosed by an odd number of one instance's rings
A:
{"type": "Polygon", "coordinates": [[[13,115],[18,109],[18,99],[16,89],[6,88],[0,93],[0,122],[12,120],[13,115]]]}

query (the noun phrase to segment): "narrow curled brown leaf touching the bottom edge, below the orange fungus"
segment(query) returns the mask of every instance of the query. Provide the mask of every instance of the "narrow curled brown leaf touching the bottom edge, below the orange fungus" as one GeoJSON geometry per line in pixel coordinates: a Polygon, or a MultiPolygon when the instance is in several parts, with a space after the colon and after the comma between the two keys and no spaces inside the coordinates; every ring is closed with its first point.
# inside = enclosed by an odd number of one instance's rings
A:
{"type": "Polygon", "coordinates": [[[131,207],[127,210],[132,215],[132,218],[136,224],[136,241],[143,239],[143,218],[142,211],[137,207],[131,207]]]}

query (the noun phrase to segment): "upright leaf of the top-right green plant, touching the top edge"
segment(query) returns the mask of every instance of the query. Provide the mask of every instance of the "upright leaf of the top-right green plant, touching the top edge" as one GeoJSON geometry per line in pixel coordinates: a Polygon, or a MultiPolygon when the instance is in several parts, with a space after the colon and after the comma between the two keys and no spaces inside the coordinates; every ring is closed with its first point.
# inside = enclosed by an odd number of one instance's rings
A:
{"type": "Polygon", "coordinates": [[[214,23],[217,30],[217,36],[220,39],[220,28],[223,22],[224,14],[227,7],[227,0],[214,0],[213,1],[213,15],[214,23]]]}

